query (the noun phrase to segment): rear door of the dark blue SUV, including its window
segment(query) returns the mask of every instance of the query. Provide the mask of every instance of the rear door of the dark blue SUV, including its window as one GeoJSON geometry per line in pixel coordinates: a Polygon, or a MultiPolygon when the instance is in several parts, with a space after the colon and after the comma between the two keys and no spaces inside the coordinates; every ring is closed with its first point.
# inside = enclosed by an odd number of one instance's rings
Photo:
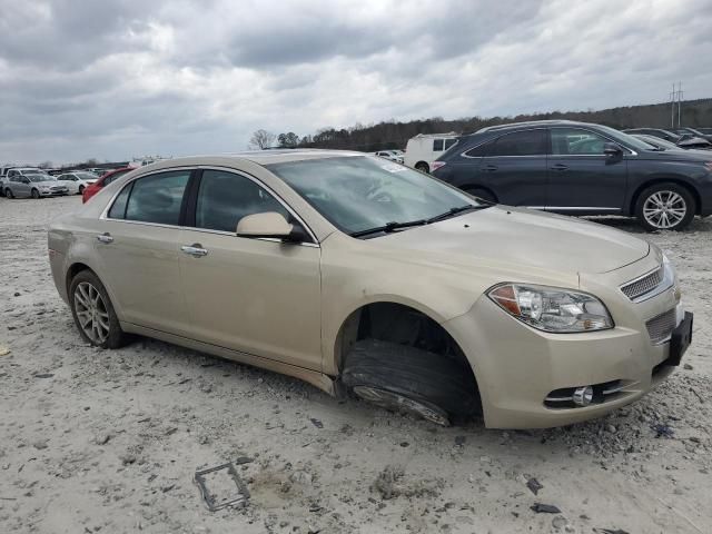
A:
{"type": "Polygon", "coordinates": [[[483,147],[477,184],[511,206],[546,206],[545,128],[505,134],[483,147]]]}

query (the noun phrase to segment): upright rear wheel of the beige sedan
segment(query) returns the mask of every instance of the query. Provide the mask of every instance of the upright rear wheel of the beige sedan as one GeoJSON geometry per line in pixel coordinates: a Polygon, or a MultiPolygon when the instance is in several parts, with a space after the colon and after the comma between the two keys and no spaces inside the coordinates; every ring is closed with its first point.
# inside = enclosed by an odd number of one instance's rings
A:
{"type": "Polygon", "coordinates": [[[127,336],[119,325],[109,295],[91,270],[82,270],[71,280],[69,304],[85,342],[101,348],[126,345],[127,336]]]}

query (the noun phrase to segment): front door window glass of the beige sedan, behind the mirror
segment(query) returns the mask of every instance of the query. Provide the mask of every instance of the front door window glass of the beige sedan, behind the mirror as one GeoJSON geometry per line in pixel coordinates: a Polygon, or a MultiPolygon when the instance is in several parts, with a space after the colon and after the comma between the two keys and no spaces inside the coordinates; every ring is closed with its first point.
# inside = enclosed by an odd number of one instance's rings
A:
{"type": "Polygon", "coordinates": [[[204,170],[196,204],[196,227],[235,233],[243,217],[276,211],[288,221],[289,211],[263,187],[234,172],[204,170]]]}

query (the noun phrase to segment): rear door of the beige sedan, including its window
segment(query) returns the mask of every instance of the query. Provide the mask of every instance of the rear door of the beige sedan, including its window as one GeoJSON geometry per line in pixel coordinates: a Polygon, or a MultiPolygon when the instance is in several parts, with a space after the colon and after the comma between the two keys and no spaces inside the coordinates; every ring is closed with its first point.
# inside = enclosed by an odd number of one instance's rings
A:
{"type": "Polygon", "coordinates": [[[99,276],[128,323],[186,335],[190,323],[180,284],[180,207],[190,170],[129,182],[95,236],[99,276]]]}

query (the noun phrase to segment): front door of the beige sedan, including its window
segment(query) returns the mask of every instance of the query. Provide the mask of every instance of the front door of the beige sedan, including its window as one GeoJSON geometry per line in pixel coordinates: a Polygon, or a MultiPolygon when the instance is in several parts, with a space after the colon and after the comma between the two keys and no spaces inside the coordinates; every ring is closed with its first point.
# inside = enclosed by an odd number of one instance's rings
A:
{"type": "Polygon", "coordinates": [[[180,259],[192,337],[320,370],[317,244],[237,237],[237,224],[247,215],[277,211],[298,222],[247,176],[206,169],[198,180],[188,208],[188,224],[195,226],[184,231],[182,244],[192,248],[180,259]]]}

